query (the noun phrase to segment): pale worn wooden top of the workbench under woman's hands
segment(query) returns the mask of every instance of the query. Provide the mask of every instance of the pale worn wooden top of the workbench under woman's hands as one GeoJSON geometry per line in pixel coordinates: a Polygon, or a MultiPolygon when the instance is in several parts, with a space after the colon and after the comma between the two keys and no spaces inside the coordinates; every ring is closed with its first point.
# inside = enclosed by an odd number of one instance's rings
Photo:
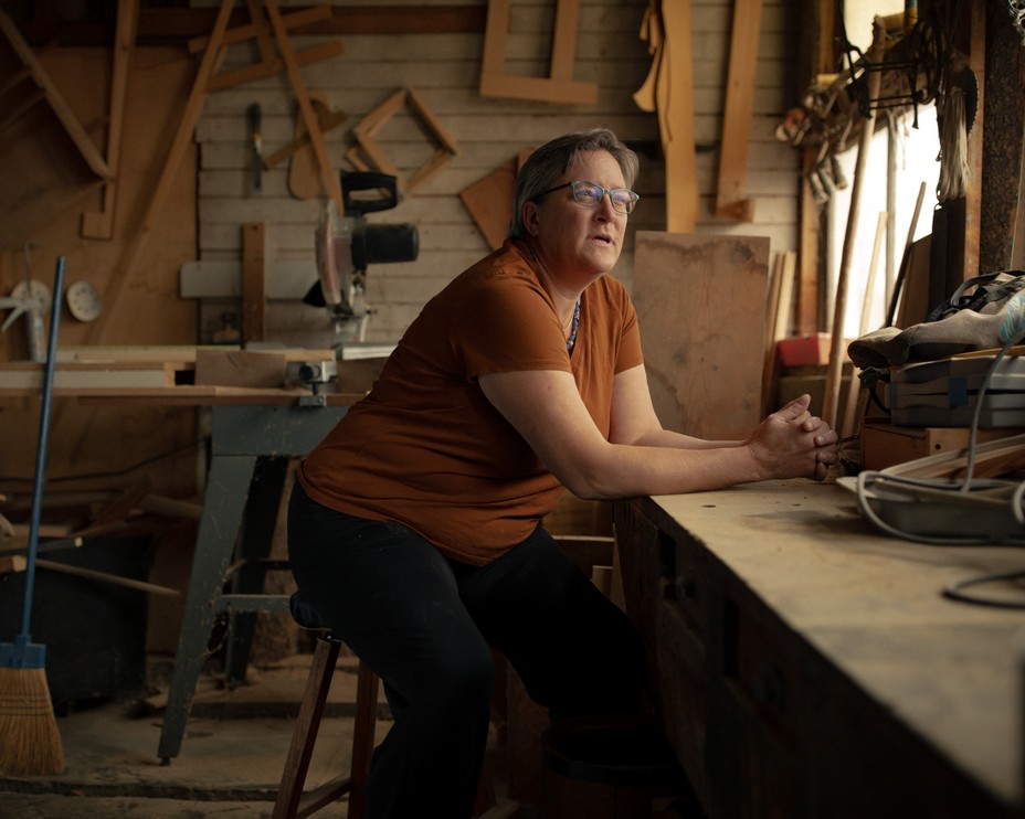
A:
{"type": "Polygon", "coordinates": [[[1022,570],[1021,547],[885,536],[854,494],[804,480],[642,506],[663,531],[702,544],[744,593],[941,754],[1022,804],[1025,611],[942,595],[968,577],[1022,570]]]}

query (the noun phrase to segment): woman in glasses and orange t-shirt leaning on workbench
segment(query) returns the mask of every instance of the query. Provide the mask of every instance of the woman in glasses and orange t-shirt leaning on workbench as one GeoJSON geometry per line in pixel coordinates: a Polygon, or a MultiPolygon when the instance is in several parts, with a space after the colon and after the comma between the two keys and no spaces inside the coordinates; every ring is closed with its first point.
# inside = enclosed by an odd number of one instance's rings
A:
{"type": "Polygon", "coordinates": [[[564,489],[613,499],[823,478],[836,435],[809,397],[743,442],[661,427],[636,316],[606,275],[637,159],[607,130],[536,150],[505,245],[412,323],[370,394],[300,465],[304,596],[383,680],[372,819],[471,816],[490,647],[553,720],[636,712],[636,632],[541,526],[564,489]]]}

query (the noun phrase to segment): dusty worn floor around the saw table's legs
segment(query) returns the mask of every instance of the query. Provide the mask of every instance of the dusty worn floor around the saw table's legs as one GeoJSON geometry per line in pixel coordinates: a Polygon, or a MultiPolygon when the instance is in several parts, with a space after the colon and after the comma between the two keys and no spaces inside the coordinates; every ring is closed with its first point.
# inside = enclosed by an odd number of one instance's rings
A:
{"type": "MultiPolygon", "coordinates": [[[[161,719],[146,703],[80,708],[57,716],[65,769],[56,776],[0,777],[0,817],[11,819],[191,819],[270,817],[302,700],[308,656],[250,673],[246,685],[198,688],[181,753],[169,765],[157,757],[161,719]]],[[[339,661],[321,724],[308,785],[348,770],[356,674],[339,661]]],[[[159,705],[159,698],[156,698],[159,705]]],[[[383,736],[390,722],[378,722],[383,736]]],[[[345,817],[346,801],[316,816],[345,817]]]]}

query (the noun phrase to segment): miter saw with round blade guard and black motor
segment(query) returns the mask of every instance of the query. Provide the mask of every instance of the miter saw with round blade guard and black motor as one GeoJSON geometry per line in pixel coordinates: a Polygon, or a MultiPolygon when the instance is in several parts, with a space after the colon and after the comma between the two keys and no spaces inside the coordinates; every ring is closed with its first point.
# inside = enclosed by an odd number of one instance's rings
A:
{"type": "Polygon", "coordinates": [[[368,224],[364,214],[391,210],[399,203],[395,178],[373,171],[342,171],[345,213],[329,199],[317,225],[317,274],[303,301],[326,307],[335,328],[336,347],[363,341],[372,310],[363,304],[367,266],[371,263],[414,262],[420,237],[406,223],[368,224]]]}

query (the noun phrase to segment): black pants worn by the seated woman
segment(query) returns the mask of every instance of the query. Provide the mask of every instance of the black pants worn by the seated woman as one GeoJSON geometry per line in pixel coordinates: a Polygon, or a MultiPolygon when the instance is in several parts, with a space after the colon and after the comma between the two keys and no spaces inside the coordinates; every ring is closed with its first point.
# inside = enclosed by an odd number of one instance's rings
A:
{"type": "Polygon", "coordinates": [[[636,630],[541,526],[471,566],[296,485],[288,551],[303,595],[384,684],[394,724],[373,754],[369,819],[469,819],[495,684],[489,647],[552,720],[640,708],[636,630]]]}

